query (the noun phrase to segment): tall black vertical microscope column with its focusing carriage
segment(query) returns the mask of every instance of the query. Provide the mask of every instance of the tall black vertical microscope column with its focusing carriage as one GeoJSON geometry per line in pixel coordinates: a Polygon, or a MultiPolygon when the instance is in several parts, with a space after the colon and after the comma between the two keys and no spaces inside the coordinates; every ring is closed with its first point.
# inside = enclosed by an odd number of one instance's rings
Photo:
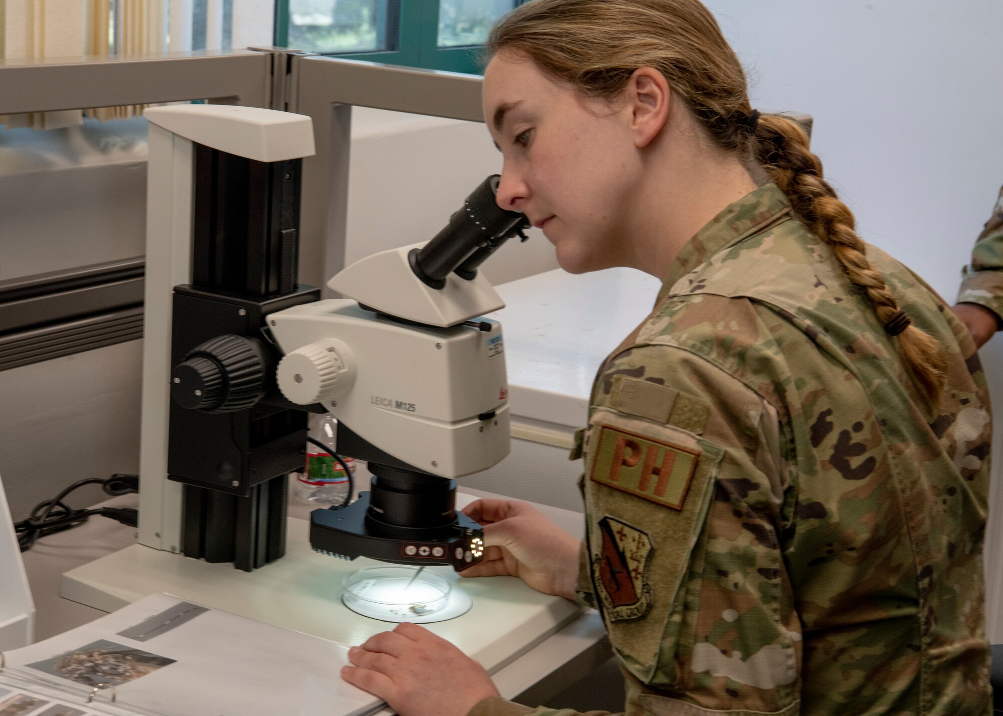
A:
{"type": "Polygon", "coordinates": [[[219,337],[264,355],[260,376],[229,375],[226,348],[216,361],[223,389],[259,381],[250,407],[171,404],[168,472],[185,484],[183,552],[245,572],[285,553],[287,474],[304,460],[307,413],[275,385],[280,356],[267,328],[269,314],[320,298],[297,283],[300,165],[196,144],[193,281],[174,296],[172,365],[219,337]]]}

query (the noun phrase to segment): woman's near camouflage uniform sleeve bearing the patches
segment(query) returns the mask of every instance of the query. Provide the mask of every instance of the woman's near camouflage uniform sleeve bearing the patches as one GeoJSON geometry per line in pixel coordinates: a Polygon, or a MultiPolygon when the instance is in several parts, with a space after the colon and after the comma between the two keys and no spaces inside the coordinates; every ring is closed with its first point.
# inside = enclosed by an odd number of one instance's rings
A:
{"type": "MultiPolygon", "coordinates": [[[[597,383],[580,580],[594,594],[580,597],[603,612],[627,713],[798,712],[778,425],[744,384],[669,345],[621,353],[597,383]]],[[[486,699],[470,716],[575,713],[486,699]]]]}

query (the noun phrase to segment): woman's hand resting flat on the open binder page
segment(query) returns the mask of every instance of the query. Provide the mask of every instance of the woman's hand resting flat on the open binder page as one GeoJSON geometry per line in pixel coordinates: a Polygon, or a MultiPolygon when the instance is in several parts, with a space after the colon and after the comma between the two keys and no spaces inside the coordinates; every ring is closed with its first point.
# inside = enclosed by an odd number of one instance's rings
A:
{"type": "Polygon", "coordinates": [[[400,716],[465,716],[497,696],[487,672],[452,644],[416,624],[352,647],[341,678],[378,696],[400,716]]]}

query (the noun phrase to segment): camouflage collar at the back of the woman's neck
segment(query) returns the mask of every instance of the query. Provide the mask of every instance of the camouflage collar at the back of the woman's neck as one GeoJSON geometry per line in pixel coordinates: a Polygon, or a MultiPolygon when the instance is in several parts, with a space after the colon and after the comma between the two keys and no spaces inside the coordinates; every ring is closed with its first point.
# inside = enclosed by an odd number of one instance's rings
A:
{"type": "Polygon", "coordinates": [[[679,252],[662,284],[662,290],[658,292],[656,305],[662,302],[679,279],[700,264],[779,220],[786,221],[791,211],[790,202],[772,182],[729,204],[679,252]]]}

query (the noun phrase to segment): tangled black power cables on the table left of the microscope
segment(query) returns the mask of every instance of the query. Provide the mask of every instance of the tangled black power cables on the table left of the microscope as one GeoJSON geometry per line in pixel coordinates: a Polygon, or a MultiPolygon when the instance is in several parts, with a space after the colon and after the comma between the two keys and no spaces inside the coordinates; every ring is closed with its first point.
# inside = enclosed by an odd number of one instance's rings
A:
{"type": "Polygon", "coordinates": [[[38,538],[61,532],[63,529],[75,527],[87,521],[91,514],[101,514],[116,519],[122,524],[134,527],[138,523],[138,510],[133,507],[97,507],[88,509],[73,509],[62,500],[75,489],[88,484],[99,484],[104,493],[117,497],[121,494],[139,491],[138,475],[115,473],[106,479],[89,477],[82,479],[63,489],[52,499],[46,499],[35,505],[26,519],[14,523],[17,542],[21,552],[27,552],[34,547],[38,538]]]}

